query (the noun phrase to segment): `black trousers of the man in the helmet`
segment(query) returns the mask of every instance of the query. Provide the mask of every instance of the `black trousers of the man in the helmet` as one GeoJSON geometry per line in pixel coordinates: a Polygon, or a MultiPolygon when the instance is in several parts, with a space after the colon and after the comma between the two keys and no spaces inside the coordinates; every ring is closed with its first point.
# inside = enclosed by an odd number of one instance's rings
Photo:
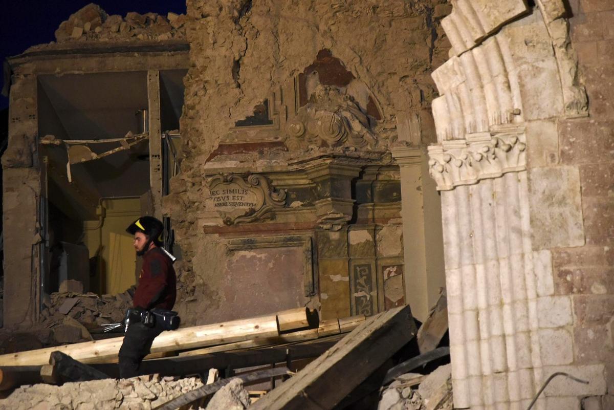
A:
{"type": "Polygon", "coordinates": [[[158,325],[147,327],[141,322],[128,326],[123,336],[122,347],[119,349],[119,376],[122,379],[139,375],[143,358],[149,354],[153,339],[162,331],[158,325]]]}

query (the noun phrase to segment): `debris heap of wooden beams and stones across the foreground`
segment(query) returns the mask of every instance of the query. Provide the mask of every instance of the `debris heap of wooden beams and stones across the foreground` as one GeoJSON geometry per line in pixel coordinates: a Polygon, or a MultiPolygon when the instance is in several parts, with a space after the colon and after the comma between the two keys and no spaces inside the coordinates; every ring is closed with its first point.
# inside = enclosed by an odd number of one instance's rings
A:
{"type": "Polygon", "coordinates": [[[378,401],[379,410],[448,410],[452,408],[449,366],[440,366],[429,376],[407,374],[429,371],[424,366],[449,356],[449,347],[437,347],[447,327],[440,320],[445,296],[438,304],[420,332],[409,306],[368,319],[359,315],[320,321],[316,312],[295,308],[179,328],[158,336],[152,354],[141,364],[141,374],[156,376],[119,382],[109,379],[119,376],[121,338],[0,355],[0,392],[34,385],[8,393],[0,408],[14,402],[10,408],[78,410],[87,404],[89,409],[175,410],[204,406],[214,395],[208,410],[243,410],[248,405],[251,410],[311,408],[313,398],[321,408],[338,410],[375,409],[378,401]],[[418,347],[410,344],[413,339],[418,347]],[[196,384],[193,376],[204,380],[207,371],[208,382],[196,384]],[[178,382],[176,376],[189,382],[166,388],[160,382],[166,381],[164,376],[173,376],[169,382],[178,382]],[[243,385],[257,389],[252,395],[258,397],[251,400],[243,385]],[[224,395],[226,390],[230,391],[224,395]],[[364,407],[366,403],[371,405],[364,407]]]}

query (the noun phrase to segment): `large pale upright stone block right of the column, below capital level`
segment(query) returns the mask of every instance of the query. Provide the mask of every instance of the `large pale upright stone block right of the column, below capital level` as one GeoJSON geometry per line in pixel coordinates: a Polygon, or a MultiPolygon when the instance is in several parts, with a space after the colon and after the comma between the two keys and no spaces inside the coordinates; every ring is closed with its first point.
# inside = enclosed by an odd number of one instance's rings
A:
{"type": "Polygon", "coordinates": [[[534,249],[584,244],[578,168],[531,169],[530,210],[534,249]]]}

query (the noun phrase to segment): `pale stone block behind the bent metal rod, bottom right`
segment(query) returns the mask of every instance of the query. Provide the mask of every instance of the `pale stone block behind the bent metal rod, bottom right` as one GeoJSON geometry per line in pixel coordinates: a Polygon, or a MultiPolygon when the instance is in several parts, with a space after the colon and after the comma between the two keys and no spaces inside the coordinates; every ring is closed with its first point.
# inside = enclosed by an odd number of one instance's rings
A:
{"type": "MultiPolygon", "coordinates": [[[[543,379],[551,374],[562,371],[573,374],[574,377],[588,381],[588,384],[578,383],[564,376],[556,376],[544,390],[546,396],[589,396],[605,394],[604,365],[583,366],[544,366],[543,379]]],[[[539,384],[541,384],[540,382],[539,384]]]]}

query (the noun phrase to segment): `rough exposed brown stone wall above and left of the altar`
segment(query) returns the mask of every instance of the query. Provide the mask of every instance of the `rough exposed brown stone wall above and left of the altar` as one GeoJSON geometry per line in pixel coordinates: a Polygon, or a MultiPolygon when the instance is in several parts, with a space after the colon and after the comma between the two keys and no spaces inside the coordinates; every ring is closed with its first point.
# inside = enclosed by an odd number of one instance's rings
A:
{"type": "Polygon", "coordinates": [[[410,139],[398,131],[410,115],[422,123],[422,142],[432,141],[430,101],[437,91],[430,73],[447,58],[440,19],[450,9],[445,0],[187,2],[192,66],[184,79],[184,158],[164,203],[184,258],[180,312],[197,315],[222,302],[216,289],[225,247],[217,234],[204,234],[202,169],[231,126],[328,50],[370,90],[381,114],[374,131],[384,149],[410,139]]]}

